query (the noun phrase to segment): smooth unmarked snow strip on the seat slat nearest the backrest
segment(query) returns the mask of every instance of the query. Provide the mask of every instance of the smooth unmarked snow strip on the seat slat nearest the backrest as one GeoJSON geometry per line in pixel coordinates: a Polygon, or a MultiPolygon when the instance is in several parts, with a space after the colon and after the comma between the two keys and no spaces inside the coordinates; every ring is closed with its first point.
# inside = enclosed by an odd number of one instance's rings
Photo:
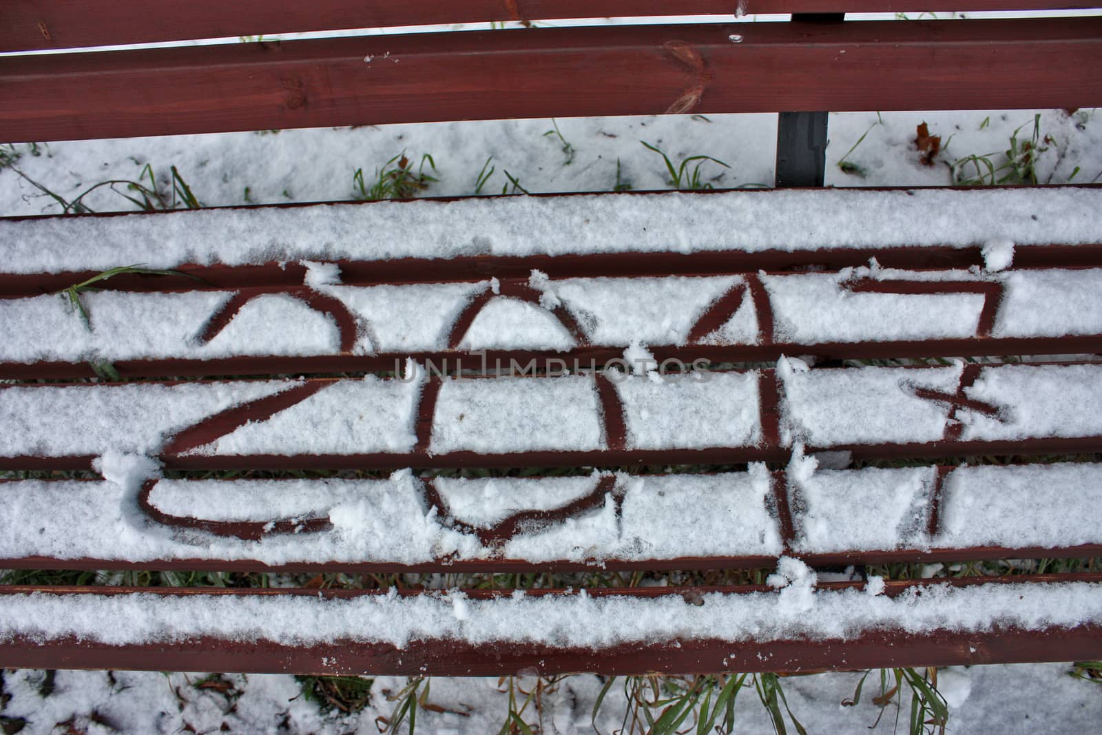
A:
{"type": "Polygon", "coordinates": [[[0,221],[9,273],[300,260],[1098,242],[1096,188],[486,197],[0,221]],[[688,226],[687,226],[688,225],[688,226]],[[96,248],[80,247],[95,242],[96,248]]]}

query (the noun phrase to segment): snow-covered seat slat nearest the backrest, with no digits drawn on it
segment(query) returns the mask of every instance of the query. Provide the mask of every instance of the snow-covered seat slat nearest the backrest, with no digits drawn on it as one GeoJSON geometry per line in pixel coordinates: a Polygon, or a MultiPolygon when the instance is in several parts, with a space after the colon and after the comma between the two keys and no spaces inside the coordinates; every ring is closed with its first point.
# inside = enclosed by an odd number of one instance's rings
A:
{"type": "MultiPolygon", "coordinates": [[[[0,220],[10,256],[0,261],[0,292],[56,291],[83,280],[77,275],[131,263],[180,268],[219,288],[299,285],[301,261],[339,263],[346,280],[363,284],[527,279],[533,269],[551,278],[609,269],[628,275],[838,270],[869,258],[885,268],[970,268],[983,266],[982,247],[1000,238],[1014,244],[1016,267],[1098,268],[1100,209],[1102,184],[493,196],[23,217],[0,220]],[[83,242],[100,247],[75,245],[83,242]]],[[[166,282],[195,288],[187,278],[127,274],[102,285],[148,290],[166,282]]]]}

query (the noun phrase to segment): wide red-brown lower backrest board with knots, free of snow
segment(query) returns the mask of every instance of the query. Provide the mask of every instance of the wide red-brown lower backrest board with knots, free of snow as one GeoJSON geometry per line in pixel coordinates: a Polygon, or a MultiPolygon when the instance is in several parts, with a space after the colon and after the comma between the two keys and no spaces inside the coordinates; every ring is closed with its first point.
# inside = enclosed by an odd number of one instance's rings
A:
{"type": "Polygon", "coordinates": [[[1102,18],[520,29],[32,55],[0,67],[0,140],[670,111],[1094,107],[1099,67],[1102,18]]]}

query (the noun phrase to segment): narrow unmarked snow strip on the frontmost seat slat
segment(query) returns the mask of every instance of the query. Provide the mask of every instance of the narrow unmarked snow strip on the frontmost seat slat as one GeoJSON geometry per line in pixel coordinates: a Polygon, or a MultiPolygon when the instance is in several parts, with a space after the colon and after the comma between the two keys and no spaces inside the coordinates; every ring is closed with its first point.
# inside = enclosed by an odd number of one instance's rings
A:
{"type": "MultiPolygon", "coordinates": [[[[788,563],[786,563],[786,561],[788,563]]],[[[151,593],[0,595],[0,641],[76,638],[114,646],[184,644],[203,637],[291,646],[333,641],[399,648],[419,640],[603,649],[673,640],[853,640],[871,630],[983,633],[1102,623],[1102,584],[931,583],[889,597],[867,591],[813,590],[814,573],[795,560],[778,592],[653,597],[581,594],[472,598],[461,592],[305,595],[151,593]]],[[[777,575],[780,576],[780,575],[777,575]]],[[[770,577],[773,579],[773,577],[770,577]]],[[[779,583],[782,583],[778,580],[779,583]]]]}

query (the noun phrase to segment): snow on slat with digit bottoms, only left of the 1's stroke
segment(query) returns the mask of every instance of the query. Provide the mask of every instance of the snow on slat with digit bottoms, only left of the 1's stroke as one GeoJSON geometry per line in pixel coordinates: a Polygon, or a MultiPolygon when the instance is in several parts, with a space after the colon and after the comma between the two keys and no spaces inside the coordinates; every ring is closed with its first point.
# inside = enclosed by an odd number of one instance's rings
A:
{"type": "MultiPolygon", "coordinates": [[[[446,479],[434,484],[455,520],[491,528],[518,511],[554,510],[594,490],[598,477],[446,479]]],[[[0,558],[250,560],[288,563],[412,565],[462,560],[529,562],[679,556],[780,555],[780,531],[766,509],[768,475],[672,475],[618,480],[590,510],[550,525],[530,523],[500,544],[484,544],[425,502],[409,472],[389,480],[170,480],[151,504],[173,516],[214,521],[311,516],[331,530],[273,533],[259,541],[176,529],[150,521],[134,487],[111,482],[22,480],[0,484],[13,522],[0,558]],[[706,515],[685,507],[709,508],[706,515]]]]}

